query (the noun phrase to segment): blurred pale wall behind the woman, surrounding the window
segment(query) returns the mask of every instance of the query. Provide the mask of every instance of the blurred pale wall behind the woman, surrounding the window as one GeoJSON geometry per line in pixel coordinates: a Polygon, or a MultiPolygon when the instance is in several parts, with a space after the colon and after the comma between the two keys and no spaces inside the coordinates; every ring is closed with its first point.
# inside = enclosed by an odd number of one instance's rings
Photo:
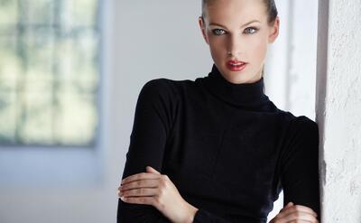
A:
{"type": "MultiPolygon", "coordinates": [[[[0,222],[116,222],[116,188],[140,88],[149,79],[194,80],[207,76],[211,69],[208,45],[198,27],[200,1],[103,2],[101,144],[96,153],[0,150],[0,161],[8,163],[3,173],[10,172],[6,181],[0,180],[0,222]],[[88,163],[79,164],[84,157],[89,157],[88,163]],[[32,163],[38,163],[37,167],[32,163]],[[77,178],[71,172],[74,169],[84,179],[77,178]],[[69,173],[74,177],[67,177],[69,173]]],[[[269,51],[265,88],[278,107],[312,118],[317,4],[290,2],[276,1],[281,34],[269,51]],[[307,16],[300,15],[304,8],[307,16]]],[[[281,207],[282,194],[270,218],[281,207]]]]}

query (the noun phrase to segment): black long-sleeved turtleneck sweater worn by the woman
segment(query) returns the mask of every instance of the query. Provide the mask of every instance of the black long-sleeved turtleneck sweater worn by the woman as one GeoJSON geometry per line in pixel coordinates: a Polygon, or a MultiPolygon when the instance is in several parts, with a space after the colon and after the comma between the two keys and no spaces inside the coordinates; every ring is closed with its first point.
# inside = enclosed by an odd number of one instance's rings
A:
{"type": "MultiPolygon", "coordinates": [[[[283,190],[319,214],[319,130],[264,94],[264,78],[152,79],[135,107],[123,177],[147,165],[169,176],[194,221],[264,223],[283,190]]],[[[151,205],[118,201],[117,222],[171,222],[151,205]]]]}

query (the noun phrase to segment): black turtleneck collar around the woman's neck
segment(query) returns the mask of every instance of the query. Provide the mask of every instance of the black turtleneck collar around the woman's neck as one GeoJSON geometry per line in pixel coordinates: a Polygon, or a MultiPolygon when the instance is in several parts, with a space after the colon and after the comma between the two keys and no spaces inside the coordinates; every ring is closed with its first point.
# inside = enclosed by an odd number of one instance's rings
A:
{"type": "Polygon", "coordinates": [[[264,77],[253,83],[232,83],[213,64],[211,72],[204,78],[204,84],[217,98],[239,107],[261,107],[269,102],[264,94],[264,77]]]}

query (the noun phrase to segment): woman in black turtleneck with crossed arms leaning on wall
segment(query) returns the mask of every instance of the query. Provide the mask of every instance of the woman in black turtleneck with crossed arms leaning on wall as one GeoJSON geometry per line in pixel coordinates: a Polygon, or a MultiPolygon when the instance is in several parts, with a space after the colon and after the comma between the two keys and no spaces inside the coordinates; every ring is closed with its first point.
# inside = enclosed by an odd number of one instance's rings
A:
{"type": "Polygon", "coordinates": [[[142,88],[118,189],[118,222],[319,222],[318,125],[278,109],[263,67],[273,0],[203,0],[207,77],[142,88]]]}

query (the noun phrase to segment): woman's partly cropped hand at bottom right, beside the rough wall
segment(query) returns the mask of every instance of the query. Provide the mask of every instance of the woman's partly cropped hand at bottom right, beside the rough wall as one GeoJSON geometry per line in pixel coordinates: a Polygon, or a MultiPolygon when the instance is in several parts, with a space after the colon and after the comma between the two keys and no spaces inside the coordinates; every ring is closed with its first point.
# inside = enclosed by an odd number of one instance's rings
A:
{"type": "Polygon", "coordinates": [[[269,223],[319,223],[317,213],[309,207],[289,202],[269,223]]]}

